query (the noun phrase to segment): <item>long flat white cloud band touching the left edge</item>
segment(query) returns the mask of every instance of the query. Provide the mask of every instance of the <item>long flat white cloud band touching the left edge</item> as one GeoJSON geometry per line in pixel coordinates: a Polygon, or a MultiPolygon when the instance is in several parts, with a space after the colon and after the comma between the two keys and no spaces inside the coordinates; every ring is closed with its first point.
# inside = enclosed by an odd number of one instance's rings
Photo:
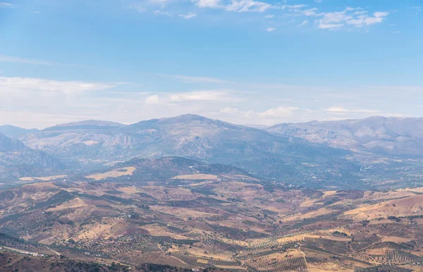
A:
{"type": "Polygon", "coordinates": [[[57,81],[42,78],[6,78],[0,77],[0,92],[62,92],[72,94],[75,92],[98,91],[116,87],[116,83],[57,81]]]}

